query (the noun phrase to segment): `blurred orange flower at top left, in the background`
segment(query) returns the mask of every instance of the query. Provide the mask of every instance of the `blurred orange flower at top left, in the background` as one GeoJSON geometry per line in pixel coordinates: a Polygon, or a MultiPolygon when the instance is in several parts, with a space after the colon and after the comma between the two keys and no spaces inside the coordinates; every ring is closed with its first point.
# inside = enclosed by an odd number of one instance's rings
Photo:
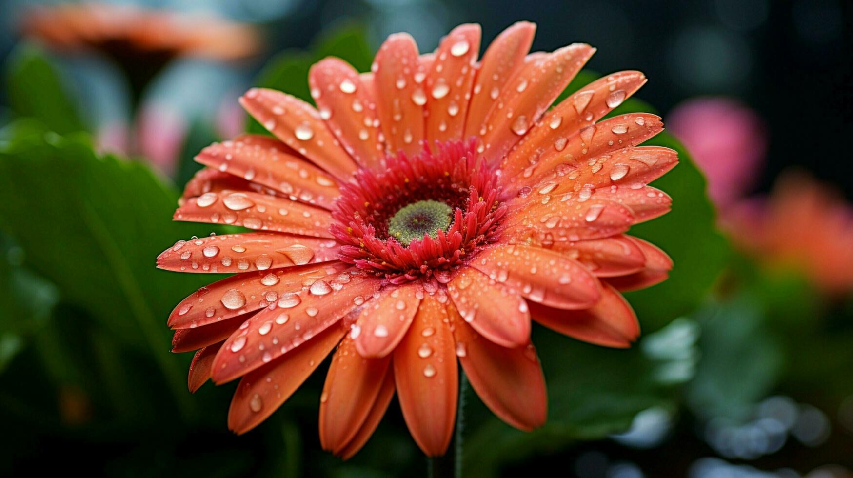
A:
{"type": "Polygon", "coordinates": [[[235,60],[258,50],[251,26],[107,3],[34,8],[24,16],[21,30],[58,50],[94,48],[136,60],[177,55],[235,60]]]}

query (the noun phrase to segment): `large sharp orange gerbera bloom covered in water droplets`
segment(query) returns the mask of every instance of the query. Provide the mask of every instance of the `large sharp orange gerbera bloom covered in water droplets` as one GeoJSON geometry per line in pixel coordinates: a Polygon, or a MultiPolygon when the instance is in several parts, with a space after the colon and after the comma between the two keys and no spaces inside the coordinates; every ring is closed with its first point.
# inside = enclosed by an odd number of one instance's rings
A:
{"type": "Polygon", "coordinates": [[[548,111],[594,49],[528,50],[508,28],[477,61],[462,25],[434,54],[388,38],[371,73],[337,58],[310,71],[319,109],[275,90],[243,106],[274,135],[213,144],[175,219],[264,230],[177,242],[161,268],[237,272],[171,314],[175,351],[199,347],[198,388],[242,377],[229,427],[243,433],[337,346],[320,399],[322,446],[343,457],[373,433],[396,392],[427,455],[456,416],[457,360],[505,422],[544,423],[531,316],[583,341],[639,334],[618,290],[658,283],[670,259],[625,236],[667,212],[646,184],[676,152],[638,147],[653,114],[596,123],[643,83],[615,73],[548,111]]]}

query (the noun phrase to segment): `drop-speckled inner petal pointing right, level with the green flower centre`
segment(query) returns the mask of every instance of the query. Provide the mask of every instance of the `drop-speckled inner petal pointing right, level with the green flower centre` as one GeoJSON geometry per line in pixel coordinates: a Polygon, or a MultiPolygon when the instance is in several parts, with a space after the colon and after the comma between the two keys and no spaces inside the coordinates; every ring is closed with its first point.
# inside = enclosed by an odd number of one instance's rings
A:
{"type": "Polygon", "coordinates": [[[505,219],[503,236],[509,242],[577,242],[622,234],[634,224],[634,213],[615,201],[592,197],[592,189],[556,193],[549,182],[529,189],[514,200],[505,219]]]}

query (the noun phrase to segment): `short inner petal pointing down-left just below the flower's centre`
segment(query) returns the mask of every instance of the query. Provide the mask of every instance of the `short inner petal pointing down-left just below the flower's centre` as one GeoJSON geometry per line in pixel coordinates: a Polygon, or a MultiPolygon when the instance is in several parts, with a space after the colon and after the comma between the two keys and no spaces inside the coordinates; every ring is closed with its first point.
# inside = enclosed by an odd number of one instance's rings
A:
{"type": "Polygon", "coordinates": [[[385,357],[403,340],[424,292],[420,283],[388,287],[366,303],[351,336],[362,357],[385,357]]]}

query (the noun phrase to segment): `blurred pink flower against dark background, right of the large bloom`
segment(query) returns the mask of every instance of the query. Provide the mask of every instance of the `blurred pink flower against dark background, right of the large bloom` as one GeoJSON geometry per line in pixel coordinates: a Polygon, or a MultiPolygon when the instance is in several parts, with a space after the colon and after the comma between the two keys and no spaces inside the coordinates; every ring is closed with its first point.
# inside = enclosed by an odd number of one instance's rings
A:
{"type": "Polygon", "coordinates": [[[767,150],[766,129],[754,111],[729,98],[695,98],[676,106],[668,119],[672,134],[705,172],[717,207],[727,207],[750,188],[767,150]]]}

